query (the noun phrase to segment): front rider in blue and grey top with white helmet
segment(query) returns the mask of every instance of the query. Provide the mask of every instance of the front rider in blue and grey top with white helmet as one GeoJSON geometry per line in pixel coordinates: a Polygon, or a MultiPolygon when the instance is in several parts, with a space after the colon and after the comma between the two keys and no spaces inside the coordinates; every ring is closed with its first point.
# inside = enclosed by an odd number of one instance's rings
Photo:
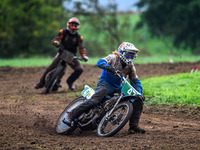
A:
{"type": "MultiPolygon", "coordinates": [[[[139,50],[129,42],[123,42],[118,52],[108,55],[107,57],[100,59],[97,62],[97,66],[103,69],[101,78],[97,84],[95,94],[91,99],[85,101],[71,112],[68,113],[68,117],[65,122],[68,125],[73,124],[74,120],[78,118],[82,113],[97,106],[104,96],[113,96],[114,93],[118,93],[121,90],[121,80],[118,76],[115,76],[116,70],[119,70],[122,74],[129,77],[131,85],[142,94],[143,89],[141,82],[136,75],[136,68],[133,64],[133,60],[136,59],[139,50]]],[[[133,104],[133,114],[129,120],[128,133],[145,133],[146,130],[139,127],[139,119],[143,110],[143,102],[145,97],[143,95],[138,96],[133,104]]]]}

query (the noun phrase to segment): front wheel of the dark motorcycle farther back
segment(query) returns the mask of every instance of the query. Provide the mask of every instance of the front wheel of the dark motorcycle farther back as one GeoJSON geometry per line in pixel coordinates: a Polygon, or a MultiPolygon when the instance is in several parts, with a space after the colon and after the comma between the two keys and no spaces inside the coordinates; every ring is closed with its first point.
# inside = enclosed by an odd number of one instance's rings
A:
{"type": "Polygon", "coordinates": [[[53,73],[51,79],[49,80],[49,82],[47,83],[46,89],[44,91],[45,94],[48,94],[49,92],[52,91],[54,85],[57,83],[59,74],[61,72],[61,70],[63,69],[63,66],[58,66],[58,68],[56,69],[56,71],[53,73]]]}

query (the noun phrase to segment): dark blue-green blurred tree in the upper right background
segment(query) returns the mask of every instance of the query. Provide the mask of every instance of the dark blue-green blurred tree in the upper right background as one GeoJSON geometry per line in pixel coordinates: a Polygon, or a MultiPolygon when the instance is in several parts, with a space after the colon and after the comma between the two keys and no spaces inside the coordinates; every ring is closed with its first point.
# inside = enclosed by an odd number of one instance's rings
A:
{"type": "Polygon", "coordinates": [[[200,52],[200,1],[197,0],[140,0],[142,22],[152,35],[172,37],[176,47],[189,47],[200,52]]]}

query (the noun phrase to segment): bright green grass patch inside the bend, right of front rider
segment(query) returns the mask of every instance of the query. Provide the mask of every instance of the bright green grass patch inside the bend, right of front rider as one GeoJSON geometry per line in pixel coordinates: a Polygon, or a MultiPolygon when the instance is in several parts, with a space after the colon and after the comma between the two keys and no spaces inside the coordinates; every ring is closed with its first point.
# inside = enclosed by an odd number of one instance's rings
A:
{"type": "Polygon", "coordinates": [[[200,106],[200,72],[141,80],[148,105],[200,106]]]}

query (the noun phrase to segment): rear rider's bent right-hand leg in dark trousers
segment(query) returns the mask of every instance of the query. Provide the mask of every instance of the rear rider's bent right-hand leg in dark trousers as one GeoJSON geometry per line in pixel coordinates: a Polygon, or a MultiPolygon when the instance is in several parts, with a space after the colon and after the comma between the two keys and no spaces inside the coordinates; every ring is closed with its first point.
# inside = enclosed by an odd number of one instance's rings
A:
{"type": "Polygon", "coordinates": [[[74,90],[73,83],[80,77],[83,73],[83,66],[77,59],[73,59],[72,63],[70,64],[71,68],[74,69],[74,72],[68,77],[67,84],[70,90],[74,90]]]}

